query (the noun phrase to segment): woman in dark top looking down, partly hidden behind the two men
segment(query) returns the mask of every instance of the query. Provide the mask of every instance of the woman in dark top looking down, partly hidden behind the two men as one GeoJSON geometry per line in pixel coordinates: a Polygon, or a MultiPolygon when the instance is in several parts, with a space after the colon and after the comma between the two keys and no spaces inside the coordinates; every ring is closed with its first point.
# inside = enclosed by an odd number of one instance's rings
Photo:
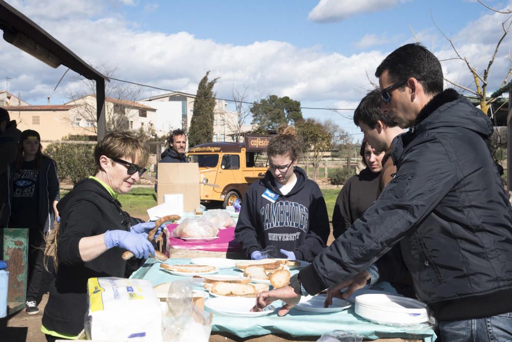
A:
{"type": "Polygon", "coordinates": [[[343,185],[334,205],[332,214],[332,234],[337,239],[355,220],[378,198],[380,171],[382,170],[383,152],[363,141],[359,152],[366,168],[358,175],[352,176],[343,185]]]}

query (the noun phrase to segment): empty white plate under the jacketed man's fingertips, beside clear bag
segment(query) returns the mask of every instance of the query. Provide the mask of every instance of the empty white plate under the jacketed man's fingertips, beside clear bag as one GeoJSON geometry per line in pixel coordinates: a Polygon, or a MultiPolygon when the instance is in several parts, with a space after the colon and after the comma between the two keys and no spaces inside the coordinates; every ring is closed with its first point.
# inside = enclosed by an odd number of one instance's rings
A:
{"type": "Polygon", "coordinates": [[[241,297],[216,297],[210,298],[204,302],[204,306],[211,311],[221,315],[236,317],[259,317],[265,316],[275,311],[272,305],[267,306],[263,311],[251,312],[250,310],[256,304],[255,298],[241,297]]]}

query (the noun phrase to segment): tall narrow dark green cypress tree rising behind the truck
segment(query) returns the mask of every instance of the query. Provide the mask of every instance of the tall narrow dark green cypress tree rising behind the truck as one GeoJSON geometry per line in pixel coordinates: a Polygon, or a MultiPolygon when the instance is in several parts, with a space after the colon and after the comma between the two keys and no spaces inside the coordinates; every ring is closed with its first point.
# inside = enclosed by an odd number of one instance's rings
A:
{"type": "Polygon", "coordinates": [[[211,142],[214,138],[214,108],[216,101],[215,93],[212,92],[212,89],[219,77],[208,82],[209,73],[209,71],[206,72],[197,88],[194,114],[190,120],[190,130],[187,137],[189,147],[211,142]]]}

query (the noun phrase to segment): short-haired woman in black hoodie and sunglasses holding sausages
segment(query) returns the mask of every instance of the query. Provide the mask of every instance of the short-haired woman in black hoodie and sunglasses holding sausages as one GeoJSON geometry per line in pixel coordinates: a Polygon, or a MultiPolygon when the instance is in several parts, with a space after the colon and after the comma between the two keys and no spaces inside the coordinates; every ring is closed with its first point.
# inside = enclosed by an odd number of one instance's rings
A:
{"type": "Polygon", "coordinates": [[[57,275],[41,326],[48,341],[74,339],[83,329],[89,278],[124,277],[126,250],[139,259],[154,254],[147,232],[155,223],[135,224],[117,200],[144,174],[147,158],[144,143],[132,133],[106,135],[94,149],[95,175],[58,203],[57,275]]]}

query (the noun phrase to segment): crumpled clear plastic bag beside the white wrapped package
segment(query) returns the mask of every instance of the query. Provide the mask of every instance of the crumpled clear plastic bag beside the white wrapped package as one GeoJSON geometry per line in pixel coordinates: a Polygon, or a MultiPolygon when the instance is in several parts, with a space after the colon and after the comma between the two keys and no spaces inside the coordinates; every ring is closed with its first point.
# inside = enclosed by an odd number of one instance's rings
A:
{"type": "Polygon", "coordinates": [[[196,308],[190,280],[170,284],[167,310],[162,319],[162,337],[166,342],[207,342],[213,315],[196,308]]]}

